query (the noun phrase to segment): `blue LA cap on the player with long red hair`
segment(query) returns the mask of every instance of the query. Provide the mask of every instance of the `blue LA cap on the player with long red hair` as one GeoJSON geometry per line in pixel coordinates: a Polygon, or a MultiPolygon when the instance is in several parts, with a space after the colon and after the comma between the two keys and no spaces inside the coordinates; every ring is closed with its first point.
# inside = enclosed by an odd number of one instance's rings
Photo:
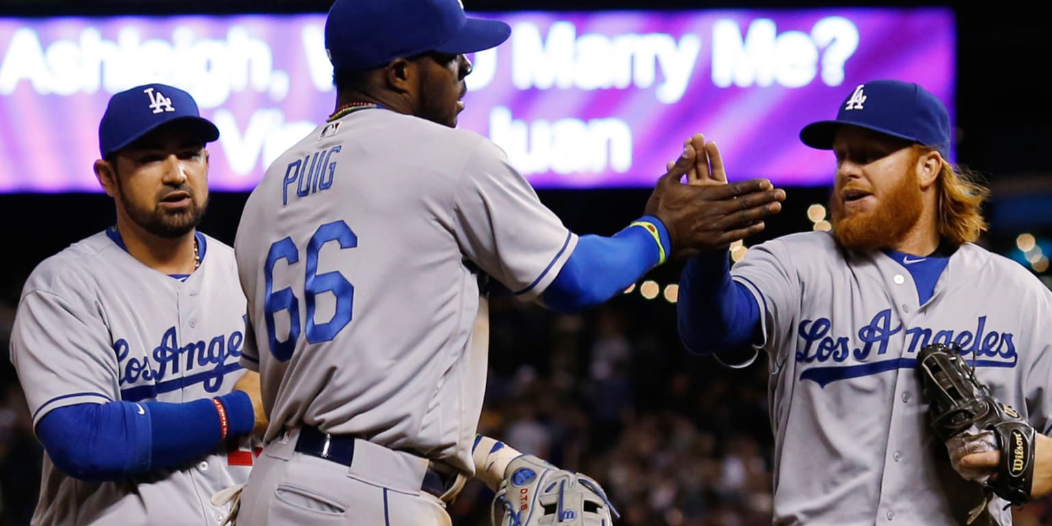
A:
{"type": "Polygon", "coordinates": [[[874,80],[858,84],[844,99],[836,120],[812,122],[800,130],[800,140],[818,149],[832,149],[833,136],[849,124],[935,148],[949,158],[950,116],[946,106],[919,84],[874,80]]]}

